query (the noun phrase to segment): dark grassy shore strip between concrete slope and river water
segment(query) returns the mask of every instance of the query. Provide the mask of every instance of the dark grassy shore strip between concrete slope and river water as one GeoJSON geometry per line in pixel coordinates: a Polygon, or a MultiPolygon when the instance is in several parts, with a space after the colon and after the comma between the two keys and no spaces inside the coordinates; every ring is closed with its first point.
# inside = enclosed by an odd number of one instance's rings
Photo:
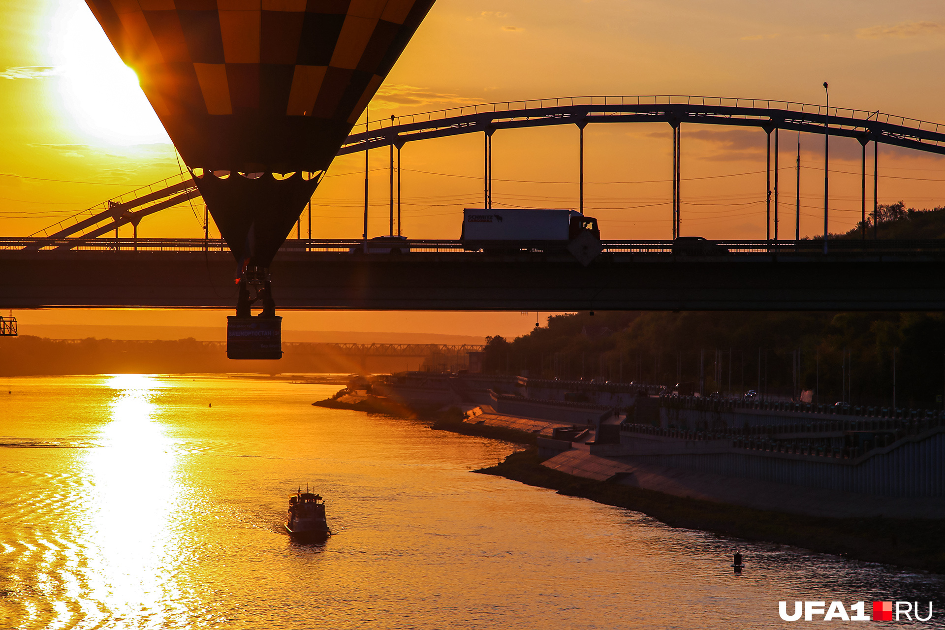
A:
{"type": "Polygon", "coordinates": [[[643,512],[672,527],[945,573],[945,521],[939,519],[812,518],[680,498],[543,467],[536,449],[512,453],[501,464],[474,472],[643,512]]]}

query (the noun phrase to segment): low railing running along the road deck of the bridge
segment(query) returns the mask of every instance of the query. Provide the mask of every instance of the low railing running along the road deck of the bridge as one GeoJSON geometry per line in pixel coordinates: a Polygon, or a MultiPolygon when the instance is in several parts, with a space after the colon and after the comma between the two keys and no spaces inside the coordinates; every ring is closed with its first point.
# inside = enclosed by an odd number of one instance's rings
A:
{"type": "MultiPolygon", "coordinates": [[[[720,247],[714,253],[722,255],[724,250],[730,254],[804,254],[817,255],[823,250],[823,241],[801,239],[799,241],[765,240],[722,240],[712,241],[720,247]]],[[[831,254],[920,254],[945,252],[945,239],[942,240],[872,240],[872,239],[831,239],[828,241],[831,254]]],[[[670,240],[609,240],[602,241],[605,252],[614,254],[669,254],[673,251],[670,240]]],[[[221,239],[157,239],[157,238],[0,238],[0,249],[32,249],[49,251],[63,246],[83,251],[139,251],[139,252],[229,252],[226,242],[221,239]]],[[[390,246],[370,243],[375,255],[388,254],[390,246]]],[[[486,253],[519,254],[524,252],[563,253],[565,245],[558,241],[529,241],[510,243],[496,241],[478,242],[474,245],[452,239],[414,239],[398,244],[402,256],[410,253],[462,253],[482,249],[486,253]],[[467,248],[470,247],[470,248],[467,248]]],[[[285,241],[280,251],[299,253],[353,253],[360,254],[364,241],[360,239],[290,239],[285,241]]],[[[707,253],[713,255],[713,252],[707,253]]]]}

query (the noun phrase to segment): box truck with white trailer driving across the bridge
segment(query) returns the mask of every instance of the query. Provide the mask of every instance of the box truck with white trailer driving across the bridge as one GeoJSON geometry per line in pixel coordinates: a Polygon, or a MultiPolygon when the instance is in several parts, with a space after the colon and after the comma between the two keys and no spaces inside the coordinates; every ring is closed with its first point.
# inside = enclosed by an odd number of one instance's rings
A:
{"type": "Polygon", "coordinates": [[[588,237],[600,240],[597,219],[574,210],[466,208],[459,239],[468,250],[510,250],[565,249],[576,239],[588,237]]]}

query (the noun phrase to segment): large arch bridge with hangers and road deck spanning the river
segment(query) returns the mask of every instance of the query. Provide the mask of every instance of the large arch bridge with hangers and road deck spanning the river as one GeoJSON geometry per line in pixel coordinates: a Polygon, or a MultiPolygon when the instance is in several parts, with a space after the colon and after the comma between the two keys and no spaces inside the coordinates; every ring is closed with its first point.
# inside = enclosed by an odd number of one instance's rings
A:
{"type": "MultiPolygon", "coordinates": [[[[490,138],[496,130],[576,125],[583,140],[583,129],[592,123],[633,122],[674,128],[674,236],[681,221],[680,128],[685,123],[762,128],[769,148],[771,135],[777,146],[782,129],[858,140],[864,218],[869,143],[874,151],[885,144],[945,154],[945,125],[876,111],[701,96],[586,96],[372,123],[352,133],[338,155],[389,146],[391,155],[397,148],[399,156],[409,142],[482,132],[483,201],[490,207],[490,138]]],[[[583,142],[583,154],[582,147],[583,142]]],[[[770,150],[768,156],[770,174],[770,150]]],[[[777,182],[777,151],[775,161],[777,182]]],[[[774,195],[777,213],[777,185],[774,195]]],[[[5,271],[0,308],[231,308],[233,262],[220,241],[103,238],[196,196],[193,180],[181,175],[26,239],[0,240],[5,271]]],[[[769,209],[770,202],[768,195],[769,209]]],[[[774,239],[768,236],[720,242],[729,250],[725,256],[674,253],[669,240],[604,241],[604,252],[587,266],[570,254],[541,248],[500,255],[464,251],[458,241],[428,240],[411,241],[409,253],[394,256],[350,253],[359,249],[360,240],[295,239],[286,241],[273,272],[283,310],[945,310],[943,241],[873,240],[864,230],[863,240],[831,240],[828,251],[827,241],[821,249],[810,240],[779,239],[777,232],[774,239]]]]}

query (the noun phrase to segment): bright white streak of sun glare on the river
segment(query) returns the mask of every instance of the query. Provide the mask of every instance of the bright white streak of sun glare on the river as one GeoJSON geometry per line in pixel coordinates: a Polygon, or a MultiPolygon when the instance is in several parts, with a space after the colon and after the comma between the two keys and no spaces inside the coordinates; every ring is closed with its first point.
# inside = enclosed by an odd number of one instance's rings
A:
{"type": "Polygon", "coordinates": [[[114,399],[102,448],[83,453],[94,485],[82,505],[88,515],[86,598],[112,618],[145,616],[163,627],[196,604],[175,575],[193,497],[180,484],[175,442],[165,435],[162,409],[153,401],[163,383],[120,375],[106,384],[114,399]]]}

